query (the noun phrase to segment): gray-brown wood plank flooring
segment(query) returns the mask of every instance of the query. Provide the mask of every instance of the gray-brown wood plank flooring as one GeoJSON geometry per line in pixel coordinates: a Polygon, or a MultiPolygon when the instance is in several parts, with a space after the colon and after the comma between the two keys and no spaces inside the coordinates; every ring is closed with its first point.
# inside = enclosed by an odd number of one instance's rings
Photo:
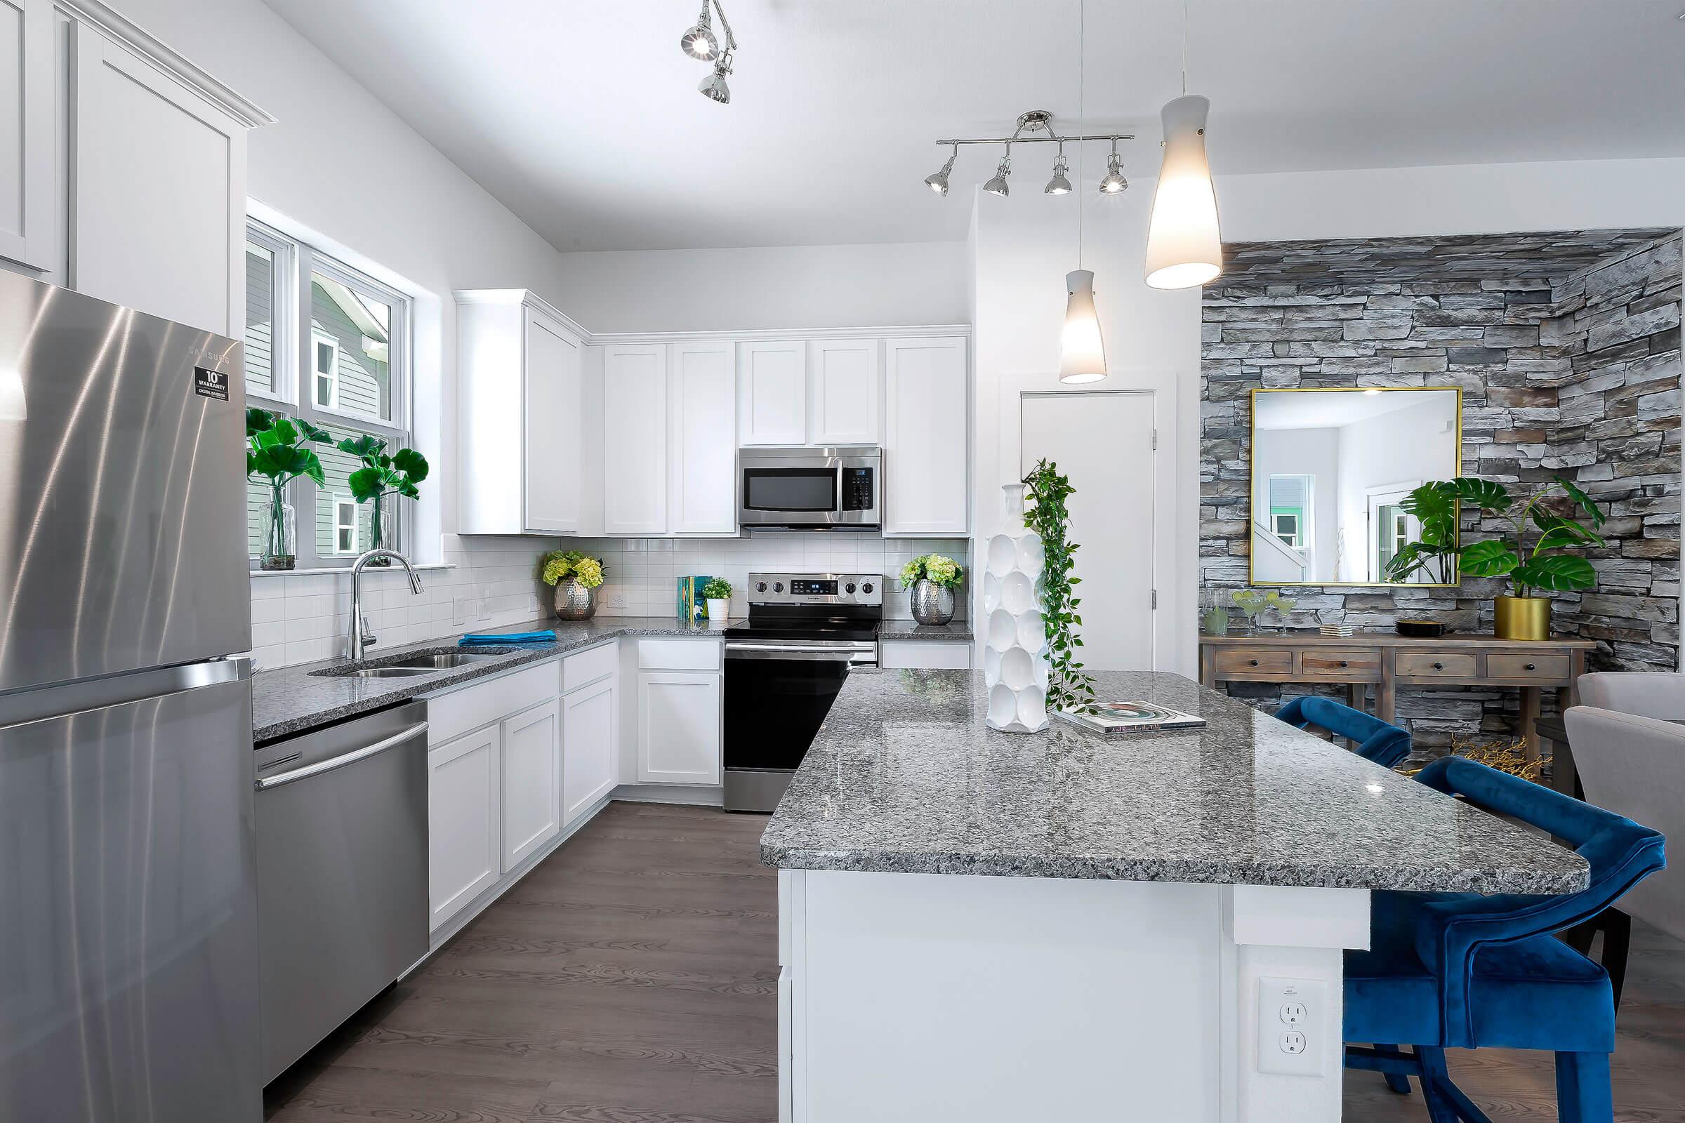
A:
{"type": "MultiPolygon", "coordinates": [[[[613,803],[266,1093],[273,1123],[770,1123],[777,877],[762,815],[613,803]]],[[[1685,1123],[1685,945],[1633,926],[1619,1123],[1685,1123]]],[[[1547,1054],[1452,1052],[1493,1120],[1554,1120],[1547,1054]]],[[[1346,1072],[1345,1118],[1419,1123],[1346,1072]]]]}

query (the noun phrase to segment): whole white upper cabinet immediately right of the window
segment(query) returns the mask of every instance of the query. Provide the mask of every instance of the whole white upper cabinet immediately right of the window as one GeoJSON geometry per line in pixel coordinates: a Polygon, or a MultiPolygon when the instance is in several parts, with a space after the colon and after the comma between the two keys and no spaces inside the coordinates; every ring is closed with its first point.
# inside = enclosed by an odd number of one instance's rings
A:
{"type": "Polygon", "coordinates": [[[462,534],[581,534],[581,340],[521,288],[457,293],[462,534]]]}

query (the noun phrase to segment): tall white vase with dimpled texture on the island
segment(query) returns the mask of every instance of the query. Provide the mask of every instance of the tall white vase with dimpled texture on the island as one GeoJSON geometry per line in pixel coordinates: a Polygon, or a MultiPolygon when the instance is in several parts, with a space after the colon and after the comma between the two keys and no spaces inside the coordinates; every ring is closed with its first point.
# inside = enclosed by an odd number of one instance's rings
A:
{"type": "Polygon", "coordinates": [[[1024,527],[1024,485],[1001,488],[1006,527],[984,549],[982,680],[989,729],[1038,732],[1048,727],[1048,645],[1041,623],[1041,535],[1024,527]]]}

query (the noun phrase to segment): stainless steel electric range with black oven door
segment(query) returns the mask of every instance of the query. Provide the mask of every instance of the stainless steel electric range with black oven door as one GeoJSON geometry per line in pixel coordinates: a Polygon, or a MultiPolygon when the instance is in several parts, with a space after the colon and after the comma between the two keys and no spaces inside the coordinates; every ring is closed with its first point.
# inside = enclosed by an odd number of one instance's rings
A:
{"type": "Polygon", "coordinates": [[[725,808],[772,812],[854,667],[878,665],[883,574],[752,572],[726,631],[725,808]]]}

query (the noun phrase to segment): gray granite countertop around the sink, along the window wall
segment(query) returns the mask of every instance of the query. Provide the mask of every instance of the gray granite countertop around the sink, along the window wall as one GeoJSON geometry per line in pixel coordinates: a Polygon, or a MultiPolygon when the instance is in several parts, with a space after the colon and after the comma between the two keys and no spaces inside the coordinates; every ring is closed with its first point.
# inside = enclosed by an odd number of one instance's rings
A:
{"type": "MultiPolygon", "coordinates": [[[[396,705],[418,694],[431,694],[443,687],[453,687],[470,679],[495,675],[521,663],[538,663],[556,658],[566,652],[603,643],[617,636],[696,636],[719,638],[725,628],[708,625],[686,626],[672,616],[596,616],[595,620],[529,620],[519,625],[499,628],[475,628],[477,633],[499,631],[541,631],[551,628],[556,643],[524,645],[509,655],[499,655],[468,667],[452,667],[426,675],[408,675],[403,679],[347,679],[334,675],[315,675],[312,672],[325,667],[344,667],[349,660],[330,658],[315,663],[298,663],[297,667],[278,667],[259,670],[251,677],[251,736],[253,741],[273,741],[286,734],[303,732],[317,726],[327,726],[364,714],[367,711],[396,705]]],[[[404,643],[401,647],[376,648],[369,653],[369,663],[389,662],[406,652],[455,647],[462,633],[452,633],[425,643],[404,643]]]]}

